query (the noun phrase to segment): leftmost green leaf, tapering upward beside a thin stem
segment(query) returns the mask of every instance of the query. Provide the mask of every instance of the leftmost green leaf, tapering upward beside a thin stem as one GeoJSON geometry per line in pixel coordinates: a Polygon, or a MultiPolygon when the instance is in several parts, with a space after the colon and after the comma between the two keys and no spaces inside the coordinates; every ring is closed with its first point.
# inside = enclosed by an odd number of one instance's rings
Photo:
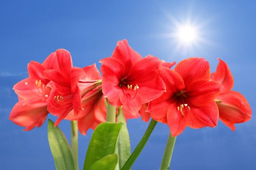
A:
{"type": "Polygon", "coordinates": [[[76,170],[76,164],[68,141],[59,127],[48,119],[48,141],[53,154],[56,170],[76,170]]]}

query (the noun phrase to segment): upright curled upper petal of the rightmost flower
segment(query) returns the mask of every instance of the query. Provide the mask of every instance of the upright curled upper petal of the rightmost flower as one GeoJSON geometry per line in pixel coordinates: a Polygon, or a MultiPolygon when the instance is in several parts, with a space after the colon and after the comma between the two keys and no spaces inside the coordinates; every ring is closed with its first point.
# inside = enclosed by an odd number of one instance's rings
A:
{"type": "Polygon", "coordinates": [[[218,60],[219,60],[219,63],[217,66],[217,70],[216,72],[212,73],[211,79],[214,81],[217,81],[223,86],[220,89],[221,93],[226,93],[231,91],[231,89],[233,88],[234,79],[228,65],[224,61],[220,60],[219,58],[218,60]]]}

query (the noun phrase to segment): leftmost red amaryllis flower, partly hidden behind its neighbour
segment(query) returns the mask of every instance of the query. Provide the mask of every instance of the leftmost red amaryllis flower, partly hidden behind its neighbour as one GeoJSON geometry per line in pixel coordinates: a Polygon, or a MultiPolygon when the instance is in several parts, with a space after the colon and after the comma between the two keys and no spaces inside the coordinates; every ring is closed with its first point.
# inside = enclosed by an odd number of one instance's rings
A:
{"type": "Polygon", "coordinates": [[[29,78],[13,87],[19,97],[19,102],[13,107],[9,119],[26,127],[25,131],[41,126],[49,113],[47,97],[51,90],[50,81],[43,78],[43,71],[47,69],[58,69],[55,52],[51,53],[43,64],[31,61],[28,64],[29,78]]]}

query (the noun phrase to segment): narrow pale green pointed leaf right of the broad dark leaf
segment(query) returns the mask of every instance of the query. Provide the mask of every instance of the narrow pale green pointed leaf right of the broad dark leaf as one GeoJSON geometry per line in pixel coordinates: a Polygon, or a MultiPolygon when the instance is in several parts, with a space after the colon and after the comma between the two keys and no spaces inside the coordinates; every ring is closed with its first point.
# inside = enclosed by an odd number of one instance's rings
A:
{"type": "Polygon", "coordinates": [[[119,133],[118,143],[117,143],[118,164],[119,164],[119,169],[121,169],[125,164],[125,162],[127,161],[127,159],[129,158],[129,156],[131,155],[131,144],[130,144],[130,136],[126,126],[126,120],[123,115],[122,109],[119,108],[118,111],[119,111],[118,122],[124,123],[119,133]]]}

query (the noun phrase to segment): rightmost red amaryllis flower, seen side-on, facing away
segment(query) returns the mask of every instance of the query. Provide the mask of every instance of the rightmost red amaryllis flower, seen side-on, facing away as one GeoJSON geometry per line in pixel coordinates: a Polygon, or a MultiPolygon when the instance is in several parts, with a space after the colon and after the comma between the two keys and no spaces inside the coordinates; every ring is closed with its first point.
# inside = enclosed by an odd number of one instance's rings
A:
{"type": "Polygon", "coordinates": [[[223,86],[220,89],[220,95],[216,98],[219,119],[234,131],[235,123],[251,119],[252,110],[242,94],[232,91],[234,79],[231,71],[224,61],[218,60],[217,70],[212,73],[211,78],[223,86]]]}

